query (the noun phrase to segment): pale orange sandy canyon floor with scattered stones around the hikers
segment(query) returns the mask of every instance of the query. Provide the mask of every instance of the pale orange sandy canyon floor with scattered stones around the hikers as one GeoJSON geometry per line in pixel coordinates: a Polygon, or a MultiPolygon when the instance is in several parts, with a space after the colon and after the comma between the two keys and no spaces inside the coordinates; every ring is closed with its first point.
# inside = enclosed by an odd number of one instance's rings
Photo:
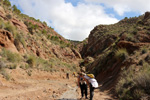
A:
{"type": "MultiPolygon", "coordinates": [[[[0,75],[0,100],[80,100],[76,77],[66,79],[64,72],[45,72],[20,68],[7,72],[7,81],[0,75]],[[29,76],[28,73],[31,73],[29,76]]],[[[94,100],[114,100],[107,92],[95,90],[94,100]]]]}

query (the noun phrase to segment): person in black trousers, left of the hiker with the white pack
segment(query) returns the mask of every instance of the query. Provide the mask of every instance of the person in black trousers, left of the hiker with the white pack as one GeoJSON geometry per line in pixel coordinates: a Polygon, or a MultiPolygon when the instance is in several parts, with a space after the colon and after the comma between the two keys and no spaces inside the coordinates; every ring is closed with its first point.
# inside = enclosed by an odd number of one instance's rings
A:
{"type": "Polygon", "coordinates": [[[78,86],[80,87],[81,90],[81,99],[84,97],[85,94],[85,99],[88,99],[87,97],[87,82],[86,80],[83,78],[83,75],[81,73],[79,73],[78,76],[78,86]]]}

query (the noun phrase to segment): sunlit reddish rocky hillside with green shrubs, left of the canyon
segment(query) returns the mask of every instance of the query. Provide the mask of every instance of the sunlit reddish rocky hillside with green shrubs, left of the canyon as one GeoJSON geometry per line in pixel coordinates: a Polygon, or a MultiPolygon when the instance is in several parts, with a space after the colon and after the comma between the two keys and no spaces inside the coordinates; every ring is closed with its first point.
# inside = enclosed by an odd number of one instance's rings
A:
{"type": "Polygon", "coordinates": [[[80,54],[46,22],[22,14],[9,0],[0,1],[0,68],[75,71],[80,54]]]}

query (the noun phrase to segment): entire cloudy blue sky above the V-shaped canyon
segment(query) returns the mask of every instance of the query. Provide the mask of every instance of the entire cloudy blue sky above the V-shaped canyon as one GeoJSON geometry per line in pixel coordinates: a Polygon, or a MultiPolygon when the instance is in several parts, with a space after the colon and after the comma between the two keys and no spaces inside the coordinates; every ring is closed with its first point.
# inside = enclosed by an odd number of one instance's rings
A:
{"type": "Polygon", "coordinates": [[[82,41],[99,24],[114,24],[150,10],[150,0],[10,0],[22,13],[53,27],[66,39],[82,41]]]}

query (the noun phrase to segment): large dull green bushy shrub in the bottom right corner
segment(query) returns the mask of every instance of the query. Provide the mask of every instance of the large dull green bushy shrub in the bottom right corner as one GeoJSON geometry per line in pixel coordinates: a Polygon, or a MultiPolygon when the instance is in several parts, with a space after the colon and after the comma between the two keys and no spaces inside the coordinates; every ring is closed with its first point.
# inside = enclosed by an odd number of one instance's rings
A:
{"type": "Polygon", "coordinates": [[[149,64],[143,63],[143,67],[138,72],[135,71],[135,66],[131,66],[121,74],[116,85],[116,93],[120,100],[143,100],[143,97],[150,94],[149,84],[149,64]]]}

